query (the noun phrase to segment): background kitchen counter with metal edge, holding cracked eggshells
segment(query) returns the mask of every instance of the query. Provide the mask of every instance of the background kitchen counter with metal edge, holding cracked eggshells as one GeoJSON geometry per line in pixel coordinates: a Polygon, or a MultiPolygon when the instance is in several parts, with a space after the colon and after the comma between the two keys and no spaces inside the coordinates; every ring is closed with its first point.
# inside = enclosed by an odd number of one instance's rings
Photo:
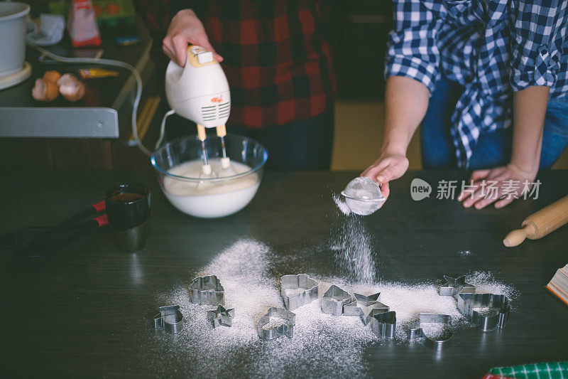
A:
{"type": "MultiPolygon", "coordinates": [[[[69,58],[93,58],[99,50],[99,58],[121,60],[138,70],[143,80],[151,70],[150,48],[152,40],[146,28],[139,26],[140,42],[133,46],[117,46],[104,41],[99,48],[74,49],[65,38],[45,50],[69,58]]],[[[118,139],[127,142],[131,134],[132,102],[136,80],[124,68],[92,63],[64,64],[45,58],[40,62],[40,53],[28,47],[26,61],[31,63],[31,77],[13,87],[0,90],[0,137],[23,138],[92,138],[118,139]],[[81,68],[104,68],[119,73],[117,77],[84,80],[85,95],[77,102],[68,102],[59,96],[53,102],[33,100],[31,90],[35,79],[42,78],[47,70],[72,73],[80,78],[81,68]]]]}

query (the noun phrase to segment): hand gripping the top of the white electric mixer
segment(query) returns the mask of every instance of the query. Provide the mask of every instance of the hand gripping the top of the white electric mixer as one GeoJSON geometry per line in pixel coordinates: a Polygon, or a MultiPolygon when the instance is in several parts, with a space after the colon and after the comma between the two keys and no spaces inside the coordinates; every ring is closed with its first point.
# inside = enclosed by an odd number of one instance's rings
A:
{"type": "Polygon", "coordinates": [[[191,9],[183,9],[172,18],[168,33],[162,41],[162,49],[165,55],[178,63],[181,67],[185,66],[187,59],[187,44],[198,45],[205,50],[212,51],[218,62],[223,61],[223,57],[215,53],[214,48],[209,43],[205,28],[195,12],[191,9]]]}

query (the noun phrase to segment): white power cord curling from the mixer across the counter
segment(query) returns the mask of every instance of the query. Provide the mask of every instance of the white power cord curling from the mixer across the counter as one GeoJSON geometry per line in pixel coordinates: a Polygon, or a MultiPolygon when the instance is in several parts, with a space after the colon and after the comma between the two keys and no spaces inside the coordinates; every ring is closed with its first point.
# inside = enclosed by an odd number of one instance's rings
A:
{"type": "MultiPolygon", "coordinates": [[[[136,124],[136,114],[138,113],[138,105],[140,105],[140,98],[142,97],[142,78],[140,77],[138,70],[136,70],[136,68],[134,68],[133,65],[123,62],[122,60],[105,59],[105,58],[69,58],[69,57],[64,57],[62,55],[51,53],[50,51],[45,50],[44,48],[40,48],[40,46],[34,45],[33,43],[28,42],[28,46],[30,46],[31,48],[35,48],[35,50],[38,50],[43,55],[48,56],[53,60],[58,60],[59,62],[62,63],[94,63],[97,65],[109,65],[114,67],[126,68],[126,70],[129,70],[133,75],[134,79],[136,79],[136,96],[134,97],[134,101],[132,104],[132,136],[134,138],[134,142],[136,142],[136,146],[138,146],[138,149],[141,149],[141,151],[148,156],[152,154],[152,152],[146,149],[146,146],[142,144],[140,137],[138,137],[138,124],[136,124]]],[[[173,114],[173,110],[171,110],[170,112],[172,112],[171,114],[173,114]]],[[[162,120],[162,129],[160,130],[160,139],[158,140],[158,144],[160,144],[161,140],[163,139],[163,129],[165,125],[165,119],[170,115],[169,114],[170,112],[166,113],[162,120]]]]}

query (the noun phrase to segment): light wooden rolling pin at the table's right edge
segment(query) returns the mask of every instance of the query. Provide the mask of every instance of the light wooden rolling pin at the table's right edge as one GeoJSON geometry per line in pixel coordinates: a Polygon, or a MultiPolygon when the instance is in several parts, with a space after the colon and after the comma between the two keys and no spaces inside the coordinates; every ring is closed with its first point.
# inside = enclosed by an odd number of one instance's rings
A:
{"type": "Polygon", "coordinates": [[[513,230],[505,237],[503,245],[506,247],[517,246],[525,238],[537,240],[557,230],[565,223],[568,223],[568,196],[564,196],[559,201],[555,201],[525,218],[520,229],[513,230]]]}

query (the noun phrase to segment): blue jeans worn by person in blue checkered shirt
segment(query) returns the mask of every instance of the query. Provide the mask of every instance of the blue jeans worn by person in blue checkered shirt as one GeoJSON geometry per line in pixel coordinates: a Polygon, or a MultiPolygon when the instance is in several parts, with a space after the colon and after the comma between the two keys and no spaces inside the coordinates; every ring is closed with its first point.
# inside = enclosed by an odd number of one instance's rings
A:
{"type": "MultiPolygon", "coordinates": [[[[457,167],[456,148],[449,132],[450,119],[463,87],[442,78],[430,97],[422,120],[422,167],[450,169],[457,167]]],[[[510,161],[513,128],[482,133],[469,161],[469,169],[503,166],[510,161]]],[[[548,102],[542,134],[540,168],[550,169],[568,145],[568,98],[548,102]]]]}

